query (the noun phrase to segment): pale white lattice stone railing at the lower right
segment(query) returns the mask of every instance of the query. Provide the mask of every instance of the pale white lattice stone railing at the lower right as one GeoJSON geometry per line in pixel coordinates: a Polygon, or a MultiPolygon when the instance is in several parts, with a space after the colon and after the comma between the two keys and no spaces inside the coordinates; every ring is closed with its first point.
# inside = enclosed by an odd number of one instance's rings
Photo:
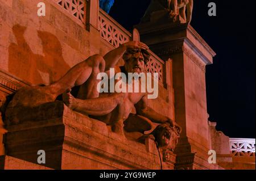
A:
{"type": "Polygon", "coordinates": [[[229,138],[233,157],[255,157],[255,139],[229,138]]]}

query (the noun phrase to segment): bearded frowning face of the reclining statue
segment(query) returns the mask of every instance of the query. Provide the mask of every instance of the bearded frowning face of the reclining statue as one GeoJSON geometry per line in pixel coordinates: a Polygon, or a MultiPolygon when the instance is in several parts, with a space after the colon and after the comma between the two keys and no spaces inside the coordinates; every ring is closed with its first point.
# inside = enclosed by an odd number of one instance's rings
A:
{"type": "Polygon", "coordinates": [[[144,56],[141,52],[137,52],[131,55],[131,57],[125,61],[125,69],[128,73],[142,73],[145,70],[144,56]]]}

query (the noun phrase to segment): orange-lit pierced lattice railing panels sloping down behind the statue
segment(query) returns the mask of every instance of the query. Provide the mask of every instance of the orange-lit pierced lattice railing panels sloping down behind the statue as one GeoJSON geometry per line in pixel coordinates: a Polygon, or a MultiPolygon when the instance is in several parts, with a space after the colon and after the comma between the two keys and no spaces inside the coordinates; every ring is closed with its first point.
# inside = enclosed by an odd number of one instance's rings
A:
{"type": "MultiPolygon", "coordinates": [[[[87,0],[52,0],[55,5],[62,7],[69,15],[76,20],[77,23],[85,24],[86,22],[86,5],[87,0]]],[[[98,1],[98,0],[97,0],[98,1]]],[[[89,5],[89,4],[88,4],[89,5]]],[[[117,48],[119,45],[131,39],[131,33],[117,23],[112,17],[100,9],[98,16],[98,28],[102,39],[108,41],[113,47],[117,48]]],[[[164,61],[156,54],[151,52],[151,59],[148,62],[146,70],[150,73],[158,73],[159,82],[164,83],[164,61]]]]}

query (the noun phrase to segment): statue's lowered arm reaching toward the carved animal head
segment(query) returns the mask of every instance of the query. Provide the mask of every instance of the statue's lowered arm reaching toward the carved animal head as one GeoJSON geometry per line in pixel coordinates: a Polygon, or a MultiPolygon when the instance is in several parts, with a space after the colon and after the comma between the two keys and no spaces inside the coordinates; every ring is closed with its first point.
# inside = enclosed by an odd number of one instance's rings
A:
{"type": "Polygon", "coordinates": [[[171,123],[171,125],[174,125],[173,121],[169,117],[163,116],[148,107],[147,95],[143,96],[143,98],[137,104],[135,104],[135,108],[138,115],[147,117],[154,123],[162,124],[168,121],[169,123],[171,123]]]}

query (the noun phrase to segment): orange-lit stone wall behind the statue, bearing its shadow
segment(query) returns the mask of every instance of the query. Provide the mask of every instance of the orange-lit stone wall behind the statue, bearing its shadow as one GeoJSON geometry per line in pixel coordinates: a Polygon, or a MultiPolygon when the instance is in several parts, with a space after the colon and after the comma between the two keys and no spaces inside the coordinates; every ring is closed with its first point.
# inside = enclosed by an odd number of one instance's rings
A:
{"type": "Polygon", "coordinates": [[[53,1],[44,2],[46,16],[39,17],[39,2],[1,1],[0,68],[32,84],[47,85],[90,54],[98,53],[100,36],[89,36],[53,1]]]}

